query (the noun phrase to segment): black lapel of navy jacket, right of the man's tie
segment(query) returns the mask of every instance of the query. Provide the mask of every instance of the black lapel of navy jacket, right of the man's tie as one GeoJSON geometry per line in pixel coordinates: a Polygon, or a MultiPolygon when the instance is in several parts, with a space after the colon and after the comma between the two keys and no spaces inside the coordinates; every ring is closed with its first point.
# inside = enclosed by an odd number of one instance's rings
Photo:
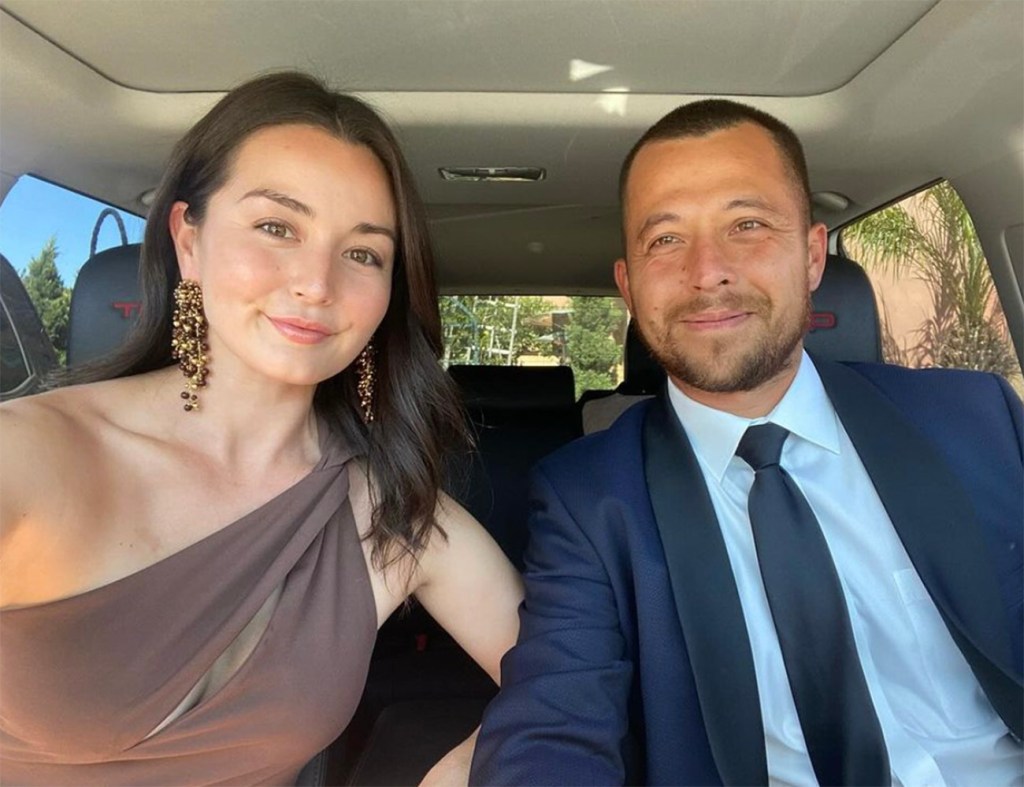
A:
{"type": "Polygon", "coordinates": [[[1006,615],[958,479],[895,405],[851,368],[815,359],[840,421],[918,574],[996,712],[1022,734],[1006,615]]]}

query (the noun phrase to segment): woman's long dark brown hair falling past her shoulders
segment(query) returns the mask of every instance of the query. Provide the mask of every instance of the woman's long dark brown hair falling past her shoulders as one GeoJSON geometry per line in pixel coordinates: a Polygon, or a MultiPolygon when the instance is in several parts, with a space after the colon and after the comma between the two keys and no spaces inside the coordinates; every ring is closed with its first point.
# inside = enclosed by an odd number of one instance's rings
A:
{"type": "Polygon", "coordinates": [[[391,300],[374,337],[376,418],[366,425],[352,366],[316,387],[313,406],[368,460],[377,566],[416,556],[433,530],[450,449],[467,443],[454,386],[441,369],[440,315],[423,203],[398,143],[362,101],[329,90],[305,74],[271,74],[231,90],[175,145],[157,189],[142,244],[142,308],[135,331],[115,354],[75,369],[67,382],[137,375],[171,365],[171,313],[180,280],[168,218],[180,201],[201,223],[210,198],[229,176],[234,155],[255,131],[303,124],[365,145],[387,171],[398,217],[391,300]]]}

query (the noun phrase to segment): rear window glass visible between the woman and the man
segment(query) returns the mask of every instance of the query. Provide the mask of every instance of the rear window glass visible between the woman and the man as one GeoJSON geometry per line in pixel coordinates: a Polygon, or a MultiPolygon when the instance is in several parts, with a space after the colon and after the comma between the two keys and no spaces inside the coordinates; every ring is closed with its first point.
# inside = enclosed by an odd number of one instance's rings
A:
{"type": "Polygon", "coordinates": [[[622,382],[627,311],[621,298],[447,295],[440,309],[445,367],[567,365],[577,396],[622,382]]]}

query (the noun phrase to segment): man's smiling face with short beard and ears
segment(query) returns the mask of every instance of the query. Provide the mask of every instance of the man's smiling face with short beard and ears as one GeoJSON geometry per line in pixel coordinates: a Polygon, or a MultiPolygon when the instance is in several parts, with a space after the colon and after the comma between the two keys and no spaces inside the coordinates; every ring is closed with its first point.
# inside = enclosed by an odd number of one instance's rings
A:
{"type": "Polygon", "coordinates": [[[625,194],[615,282],[685,391],[753,391],[795,369],[825,228],[760,126],[651,142],[625,194]]]}

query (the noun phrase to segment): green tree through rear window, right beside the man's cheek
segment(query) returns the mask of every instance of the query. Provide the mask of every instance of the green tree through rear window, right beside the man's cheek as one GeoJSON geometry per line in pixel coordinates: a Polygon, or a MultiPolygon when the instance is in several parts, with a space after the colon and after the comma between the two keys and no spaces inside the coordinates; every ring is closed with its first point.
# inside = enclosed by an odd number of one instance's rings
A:
{"type": "Polygon", "coordinates": [[[577,396],[616,384],[623,360],[626,309],[617,298],[571,298],[572,318],[565,331],[566,349],[575,377],[577,396]]]}

